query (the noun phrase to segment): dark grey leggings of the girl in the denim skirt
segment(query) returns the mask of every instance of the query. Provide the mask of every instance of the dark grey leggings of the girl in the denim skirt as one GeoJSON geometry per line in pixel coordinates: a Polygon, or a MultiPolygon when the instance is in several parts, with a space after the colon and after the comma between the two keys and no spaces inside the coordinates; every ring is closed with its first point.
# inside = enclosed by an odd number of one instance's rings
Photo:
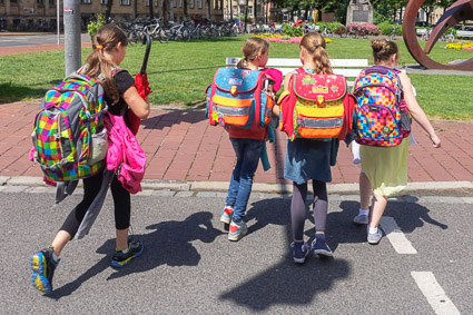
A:
{"type": "MultiPolygon", "coordinates": [[[[314,223],[316,232],[325,232],[327,219],[327,185],[324,181],[313,180],[314,189],[314,223]]],[[[290,218],[293,222],[294,240],[303,240],[305,222],[305,200],[307,198],[307,183],[293,186],[293,199],[290,201],[290,218]]]]}

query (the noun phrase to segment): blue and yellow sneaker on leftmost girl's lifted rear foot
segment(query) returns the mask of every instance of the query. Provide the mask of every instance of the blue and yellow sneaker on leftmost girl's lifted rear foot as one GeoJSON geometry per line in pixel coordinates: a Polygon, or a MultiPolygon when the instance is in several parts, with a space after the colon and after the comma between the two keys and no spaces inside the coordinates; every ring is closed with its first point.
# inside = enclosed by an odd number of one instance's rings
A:
{"type": "Polygon", "coordinates": [[[30,258],[31,283],[37,289],[46,294],[51,294],[52,292],[52,276],[59,264],[59,260],[55,262],[52,259],[52,248],[48,247],[36,253],[30,258]]]}

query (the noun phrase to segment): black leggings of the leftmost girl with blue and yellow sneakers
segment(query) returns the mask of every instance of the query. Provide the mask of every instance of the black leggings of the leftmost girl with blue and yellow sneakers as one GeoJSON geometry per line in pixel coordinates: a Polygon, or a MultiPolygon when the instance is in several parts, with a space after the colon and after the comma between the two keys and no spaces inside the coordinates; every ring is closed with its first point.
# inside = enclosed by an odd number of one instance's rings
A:
{"type": "MultiPolygon", "coordinates": [[[[97,194],[100,190],[101,181],[104,174],[99,174],[82,179],[83,181],[83,199],[79,205],[73,208],[69,216],[66,218],[60,230],[66,230],[71,235],[71,239],[79,229],[80,224],[82,223],[86,211],[89,206],[92,204],[97,194]]],[[[121,183],[114,176],[114,179],[110,184],[111,196],[114,197],[115,206],[115,227],[117,229],[125,229],[130,226],[130,213],[131,213],[131,200],[130,193],[126,190],[121,183]]]]}

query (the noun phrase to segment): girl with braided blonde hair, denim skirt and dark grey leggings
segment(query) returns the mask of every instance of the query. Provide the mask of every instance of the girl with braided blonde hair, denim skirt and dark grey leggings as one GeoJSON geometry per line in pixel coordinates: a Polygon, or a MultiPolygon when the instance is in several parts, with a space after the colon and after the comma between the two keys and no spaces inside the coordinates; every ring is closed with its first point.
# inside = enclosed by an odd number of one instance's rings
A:
{"type": "MultiPolygon", "coordinates": [[[[325,40],[318,33],[307,33],[300,41],[299,58],[303,68],[297,71],[315,75],[332,75],[332,67],[325,50],[325,40]]],[[[296,71],[294,71],[296,72],[296,71]]],[[[284,90],[289,90],[289,82],[294,72],[286,75],[284,90]]],[[[314,83],[313,83],[314,85],[314,83]]],[[[283,112],[288,109],[282,108],[283,112]]],[[[279,115],[279,108],[274,112],[279,115]]],[[[296,138],[287,140],[284,178],[293,180],[293,198],[290,203],[290,218],[293,226],[292,247],[294,262],[304,263],[311,250],[316,255],[332,256],[333,253],[325,242],[325,223],[327,217],[328,200],[327,185],[332,181],[331,158],[332,150],[338,148],[337,139],[307,139],[296,138]],[[306,216],[305,200],[307,197],[307,183],[312,179],[314,189],[314,222],[315,239],[312,245],[304,243],[304,223],[306,216]]]]}

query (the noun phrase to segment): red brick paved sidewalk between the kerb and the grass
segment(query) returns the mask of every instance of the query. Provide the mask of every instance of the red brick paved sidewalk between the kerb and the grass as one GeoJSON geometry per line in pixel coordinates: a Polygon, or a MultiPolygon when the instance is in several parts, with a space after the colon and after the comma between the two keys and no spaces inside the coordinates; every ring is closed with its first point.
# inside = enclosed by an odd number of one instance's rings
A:
{"type": "MultiPolygon", "coordinates": [[[[38,104],[0,105],[0,176],[42,176],[39,166],[28,159],[31,128],[38,104]]],[[[442,148],[434,149],[424,131],[413,125],[418,145],[410,147],[410,181],[473,180],[473,124],[438,121],[442,148]]],[[[256,183],[287,183],[283,178],[285,135],[277,131],[268,144],[272,168],[258,166],[256,183]]],[[[211,127],[201,110],[152,109],[142,121],[138,140],[148,157],[146,179],[180,181],[228,181],[235,154],[226,131],[211,127]]],[[[333,183],[357,183],[359,167],[341,145],[338,163],[333,167],[333,183]]]]}

